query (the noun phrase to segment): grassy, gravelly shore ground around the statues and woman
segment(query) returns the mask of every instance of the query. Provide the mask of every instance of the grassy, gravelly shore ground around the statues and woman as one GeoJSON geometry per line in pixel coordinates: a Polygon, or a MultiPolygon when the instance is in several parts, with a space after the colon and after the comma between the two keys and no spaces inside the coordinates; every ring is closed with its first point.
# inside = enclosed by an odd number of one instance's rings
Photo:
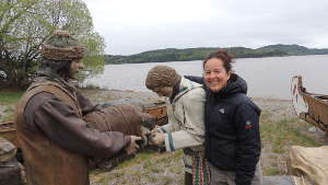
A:
{"type": "MultiPolygon", "coordinates": [[[[109,102],[117,99],[148,101],[152,95],[132,91],[104,91],[86,89],[83,93],[94,102],[109,102]]],[[[22,92],[0,92],[0,122],[12,118],[14,104],[22,92]]],[[[312,125],[298,119],[290,101],[254,99],[262,109],[260,134],[262,140],[261,165],[263,175],[286,174],[291,146],[318,147],[327,144],[321,131],[308,131],[312,125]]],[[[92,185],[108,184],[183,184],[183,153],[141,152],[110,171],[95,170],[91,173],[92,185]]]]}

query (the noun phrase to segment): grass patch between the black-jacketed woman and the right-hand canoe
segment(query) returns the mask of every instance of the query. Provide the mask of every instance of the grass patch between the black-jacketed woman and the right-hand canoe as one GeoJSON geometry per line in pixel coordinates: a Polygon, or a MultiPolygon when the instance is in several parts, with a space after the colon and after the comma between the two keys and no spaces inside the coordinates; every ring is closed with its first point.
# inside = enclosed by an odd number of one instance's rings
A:
{"type": "Polygon", "coordinates": [[[298,118],[272,120],[271,116],[274,115],[268,112],[261,116],[261,165],[263,175],[284,175],[291,146],[319,147],[324,142],[306,134],[312,127],[309,124],[298,118]]]}

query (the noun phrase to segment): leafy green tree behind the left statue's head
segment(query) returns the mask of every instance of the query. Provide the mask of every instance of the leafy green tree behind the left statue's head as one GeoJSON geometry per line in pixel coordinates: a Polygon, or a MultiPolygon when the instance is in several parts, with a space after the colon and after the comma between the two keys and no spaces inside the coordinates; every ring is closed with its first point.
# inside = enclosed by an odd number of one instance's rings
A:
{"type": "Polygon", "coordinates": [[[26,88],[37,71],[40,44],[55,30],[69,31],[87,49],[87,76],[104,69],[104,39],[82,0],[0,1],[0,84],[26,88]],[[92,69],[92,70],[91,70],[92,69]]]}

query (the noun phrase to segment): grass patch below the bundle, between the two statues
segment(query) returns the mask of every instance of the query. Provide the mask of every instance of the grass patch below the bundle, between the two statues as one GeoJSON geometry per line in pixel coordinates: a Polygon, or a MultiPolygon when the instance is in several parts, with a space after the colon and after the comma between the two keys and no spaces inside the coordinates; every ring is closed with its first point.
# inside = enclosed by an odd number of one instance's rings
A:
{"type": "Polygon", "coordinates": [[[141,152],[112,171],[96,170],[91,173],[92,185],[142,184],[179,185],[184,182],[183,152],[141,152]]]}

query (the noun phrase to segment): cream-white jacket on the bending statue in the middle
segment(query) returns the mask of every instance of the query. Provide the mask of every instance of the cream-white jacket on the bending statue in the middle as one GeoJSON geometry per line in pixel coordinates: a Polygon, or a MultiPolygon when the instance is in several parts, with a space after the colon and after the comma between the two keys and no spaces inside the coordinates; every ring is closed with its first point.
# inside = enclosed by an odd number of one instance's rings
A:
{"type": "MultiPolygon", "coordinates": [[[[201,84],[181,78],[179,92],[172,103],[167,103],[168,124],[160,128],[165,132],[166,151],[186,148],[203,150],[204,101],[206,93],[201,84]]],[[[190,173],[192,157],[186,155],[184,160],[190,173]]]]}

